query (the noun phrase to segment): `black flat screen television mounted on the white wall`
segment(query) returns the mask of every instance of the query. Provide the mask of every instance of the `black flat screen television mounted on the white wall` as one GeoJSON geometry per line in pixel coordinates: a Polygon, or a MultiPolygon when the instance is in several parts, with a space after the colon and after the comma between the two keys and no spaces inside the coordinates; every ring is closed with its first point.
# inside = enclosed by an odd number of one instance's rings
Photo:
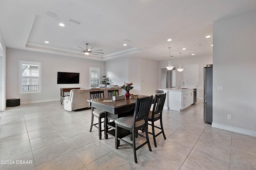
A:
{"type": "Polygon", "coordinates": [[[79,84],[79,73],[58,72],[57,84],[79,84]]]}

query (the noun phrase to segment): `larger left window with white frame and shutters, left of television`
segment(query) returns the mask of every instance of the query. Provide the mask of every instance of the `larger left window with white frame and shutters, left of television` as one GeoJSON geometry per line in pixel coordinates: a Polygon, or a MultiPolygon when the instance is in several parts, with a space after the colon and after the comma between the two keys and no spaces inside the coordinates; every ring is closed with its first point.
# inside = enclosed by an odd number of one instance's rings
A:
{"type": "Polygon", "coordinates": [[[41,62],[19,60],[19,93],[42,93],[41,62]]]}

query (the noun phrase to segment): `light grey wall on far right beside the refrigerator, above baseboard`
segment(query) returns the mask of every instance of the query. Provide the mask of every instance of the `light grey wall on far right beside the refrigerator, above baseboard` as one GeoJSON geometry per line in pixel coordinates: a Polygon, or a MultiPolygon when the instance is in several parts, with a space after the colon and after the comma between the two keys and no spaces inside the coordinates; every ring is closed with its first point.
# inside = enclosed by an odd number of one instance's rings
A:
{"type": "Polygon", "coordinates": [[[212,125],[252,136],[256,136],[255,30],[256,10],[213,23],[212,125]]]}

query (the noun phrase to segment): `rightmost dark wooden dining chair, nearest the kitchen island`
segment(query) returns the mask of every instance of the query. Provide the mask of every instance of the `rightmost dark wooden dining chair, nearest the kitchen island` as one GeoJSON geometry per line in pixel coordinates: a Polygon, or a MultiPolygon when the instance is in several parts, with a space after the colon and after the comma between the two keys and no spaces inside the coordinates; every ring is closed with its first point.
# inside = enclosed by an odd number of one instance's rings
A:
{"type": "Polygon", "coordinates": [[[166,139],[165,134],[164,134],[163,121],[162,121],[162,112],[164,109],[165,98],[166,98],[166,93],[162,94],[162,95],[155,95],[153,110],[150,111],[149,115],[148,115],[148,121],[151,122],[151,124],[148,123],[148,125],[152,126],[152,133],[151,132],[148,132],[148,133],[153,135],[155,147],[157,147],[156,146],[156,136],[158,136],[159,134],[162,133],[164,136],[164,139],[166,139]],[[154,122],[158,121],[158,120],[160,120],[161,127],[157,127],[156,125],[154,125],[154,122]],[[158,134],[155,134],[154,128],[160,129],[161,132],[159,132],[158,134]]]}

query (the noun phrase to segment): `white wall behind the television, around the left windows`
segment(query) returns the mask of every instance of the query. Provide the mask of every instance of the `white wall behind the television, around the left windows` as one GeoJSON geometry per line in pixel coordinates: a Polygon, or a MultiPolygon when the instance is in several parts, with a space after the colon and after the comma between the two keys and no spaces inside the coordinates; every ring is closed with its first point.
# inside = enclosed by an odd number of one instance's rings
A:
{"type": "Polygon", "coordinates": [[[105,63],[102,61],[7,48],[6,99],[19,98],[21,103],[58,100],[61,87],[89,88],[89,67],[100,67],[100,77],[105,75],[105,63]],[[18,94],[18,60],[42,62],[42,94],[18,94]],[[58,71],[80,73],[79,84],[57,84],[58,71]]]}

